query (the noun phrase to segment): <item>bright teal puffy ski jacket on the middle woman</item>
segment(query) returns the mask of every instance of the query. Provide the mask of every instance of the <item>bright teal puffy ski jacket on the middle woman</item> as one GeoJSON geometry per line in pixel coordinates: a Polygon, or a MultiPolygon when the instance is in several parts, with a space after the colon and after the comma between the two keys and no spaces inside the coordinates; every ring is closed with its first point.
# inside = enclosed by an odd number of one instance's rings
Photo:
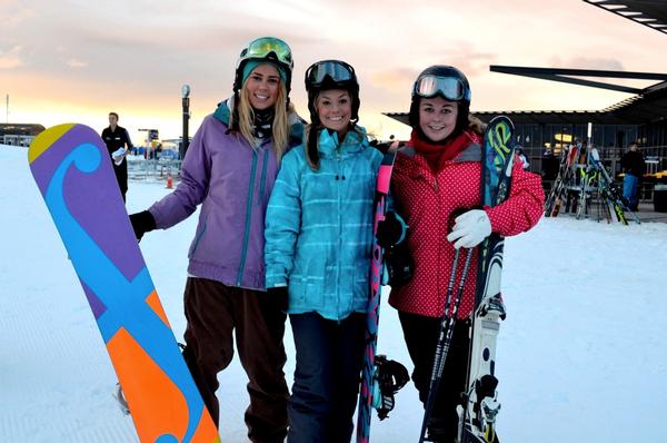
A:
{"type": "Polygon", "coordinates": [[[319,132],[320,168],[305,145],[282,159],[266,216],[267,288],[289,286],[289,314],[342,319],[366,312],[372,201],[382,155],[366,132],[319,132]]]}

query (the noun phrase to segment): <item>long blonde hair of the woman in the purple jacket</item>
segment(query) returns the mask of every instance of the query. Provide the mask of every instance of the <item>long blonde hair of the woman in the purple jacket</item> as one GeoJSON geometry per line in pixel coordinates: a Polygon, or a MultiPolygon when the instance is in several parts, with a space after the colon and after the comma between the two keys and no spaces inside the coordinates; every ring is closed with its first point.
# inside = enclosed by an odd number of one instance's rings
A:
{"type": "MultiPolygon", "coordinates": [[[[255,121],[255,110],[250,105],[250,98],[248,92],[248,82],[245,82],[239,93],[239,130],[241,135],[250,146],[255,147],[256,140],[252,135],[252,126],[255,121]]],[[[287,102],[287,89],[282,81],[278,85],[278,96],[276,97],[276,104],[273,104],[273,122],[271,124],[271,140],[273,150],[276,151],[276,159],[280,163],[282,154],[287,149],[289,144],[289,116],[288,107],[285,106],[287,102]]],[[[289,105],[289,110],[293,107],[289,105]]]]}

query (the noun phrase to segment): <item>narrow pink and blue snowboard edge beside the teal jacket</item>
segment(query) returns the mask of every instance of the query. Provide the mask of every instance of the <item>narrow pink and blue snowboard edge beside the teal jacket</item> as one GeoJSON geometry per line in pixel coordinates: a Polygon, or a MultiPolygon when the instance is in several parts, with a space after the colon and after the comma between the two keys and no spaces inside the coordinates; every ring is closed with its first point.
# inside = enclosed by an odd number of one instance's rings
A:
{"type": "MultiPolygon", "coordinates": [[[[378,223],[385,219],[389,183],[396,150],[390,149],[380,165],[376,183],[375,216],[372,224],[374,234],[377,233],[378,223]]],[[[364,352],[364,367],[361,370],[361,388],[359,392],[359,407],[357,408],[357,442],[368,443],[370,440],[370,414],[374,405],[374,375],[376,348],[378,344],[378,323],[380,319],[380,294],[382,292],[382,248],[377,238],[372,240],[372,257],[370,264],[370,298],[366,318],[366,351],[364,352]]]]}

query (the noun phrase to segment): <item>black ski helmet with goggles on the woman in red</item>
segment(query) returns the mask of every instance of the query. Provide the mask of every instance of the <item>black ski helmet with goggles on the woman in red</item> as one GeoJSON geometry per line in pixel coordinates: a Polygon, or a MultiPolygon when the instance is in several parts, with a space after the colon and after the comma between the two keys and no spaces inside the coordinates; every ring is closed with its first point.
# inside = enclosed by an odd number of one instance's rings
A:
{"type": "Polygon", "coordinates": [[[410,104],[410,126],[420,135],[419,102],[422,98],[442,97],[449,101],[458,102],[458,115],[452,134],[458,134],[468,127],[470,114],[470,83],[457,68],[447,65],[435,65],[426,68],[412,85],[412,101],[410,104]]]}

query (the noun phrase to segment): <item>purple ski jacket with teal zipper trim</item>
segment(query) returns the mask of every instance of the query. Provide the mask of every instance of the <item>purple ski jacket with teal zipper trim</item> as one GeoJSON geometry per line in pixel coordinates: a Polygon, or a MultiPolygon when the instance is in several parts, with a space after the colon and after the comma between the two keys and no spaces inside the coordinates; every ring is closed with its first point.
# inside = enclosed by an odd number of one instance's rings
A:
{"type": "MultiPolygon", "coordinates": [[[[203,119],[183,159],[181,183],[149,210],[157,227],[167,229],[201,204],[188,273],[263,291],[265,214],[278,165],[270,138],[253,149],[240,134],[227,132],[228,116],[223,102],[203,119]]],[[[292,125],[292,134],[298,136],[293,127],[300,125],[292,125]]]]}

